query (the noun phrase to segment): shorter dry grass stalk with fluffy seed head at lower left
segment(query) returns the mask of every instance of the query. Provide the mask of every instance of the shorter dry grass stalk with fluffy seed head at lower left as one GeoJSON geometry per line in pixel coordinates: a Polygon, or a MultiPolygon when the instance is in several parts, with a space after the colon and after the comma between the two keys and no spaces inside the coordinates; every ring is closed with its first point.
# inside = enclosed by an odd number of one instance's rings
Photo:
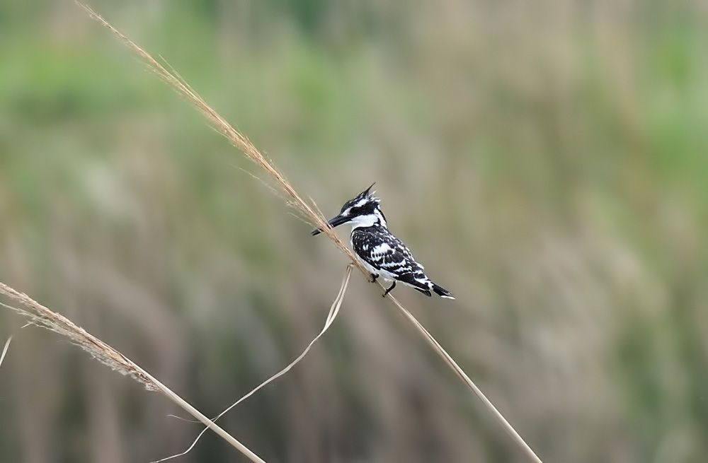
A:
{"type": "MultiPolygon", "coordinates": [[[[130,358],[127,358],[122,353],[116,351],[113,347],[108,346],[108,344],[105,344],[105,342],[101,341],[101,339],[98,339],[96,336],[93,336],[93,334],[87,332],[85,329],[77,326],[67,317],[60,315],[57,312],[53,312],[44,305],[41,305],[37,301],[30,298],[28,295],[15,291],[13,288],[4,283],[0,283],[0,294],[6,295],[8,298],[15,300],[20,303],[21,306],[15,307],[4,303],[0,303],[0,305],[18,312],[18,314],[28,318],[32,324],[50,329],[53,332],[61,334],[62,336],[67,336],[67,338],[71,339],[74,344],[78,344],[84,349],[84,351],[87,351],[91,354],[91,356],[93,356],[93,358],[96,358],[96,360],[108,365],[110,368],[118,371],[118,373],[121,373],[122,375],[129,375],[133,379],[142,382],[147,389],[162,392],[162,394],[168,397],[172,402],[187,411],[188,414],[197,418],[199,421],[204,423],[207,428],[213,430],[229,444],[233,445],[241,453],[246,455],[246,457],[249,457],[251,462],[265,463],[261,457],[258,457],[258,455],[251,452],[248,447],[241,444],[225,430],[219,428],[219,426],[207,418],[207,416],[172,392],[169,387],[166,387],[164,384],[152,377],[152,375],[147,373],[147,371],[143,370],[139,367],[139,365],[131,361],[130,358]]],[[[7,350],[8,344],[6,344],[3,351],[3,357],[7,350]]]]}

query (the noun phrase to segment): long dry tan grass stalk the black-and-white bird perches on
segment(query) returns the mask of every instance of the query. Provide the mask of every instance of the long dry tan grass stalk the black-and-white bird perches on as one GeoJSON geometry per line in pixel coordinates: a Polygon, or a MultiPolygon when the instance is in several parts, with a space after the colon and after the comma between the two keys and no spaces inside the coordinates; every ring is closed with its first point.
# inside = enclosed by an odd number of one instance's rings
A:
{"type": "MultiPolygon", "coordinates": [[[[275,182],[277,182],[278,185],[282,188],[282,190],[287,194],[287,196],[292,198],[292,204],[296,207],[298,211],[304,214],[305,218],[309,219],[312,221],[314,225],[317,227],[321,228],[324,230],[324,233],[329,236],[331,240],[339,247],[339,249],[345,253],[349,259],[358,266],[358,268],[362,271],[363,274],[367,276],[367,278],[370,277],[369,272],[360,264],[360,262],[354,257],[353,252],[347,247],[342,240],[338,238],[338,236],[333,232],[331,228],[329,228],[328,225],[326,225],[326,221],[321,214],[315,213],[314,208],[307,204],[306,201],[302,199],[302,197],[297,194],[295,189],[290,185],[289,182],[285,179],[285,176],[283,176],[278,170],[276,170],[273,165],[261,154],[260,151],[258,151],[258,148],[256,146],[253,146],[253,143],[249,141],[249,139],[246,138],[243,134],[241,134],[239,131],[234,129],[234,127],[229,124],[229,122],[226,121],[219,113],[217,113],[212,107],[207,105],[207,103],[202,100],[202,98],[191,88],[188,83],[186,83],[183,78],[181,78],[176,72],[171,72],[168,69],[165,68],[164,65],[159,63],[159,61],[156,61],[148,52],[146,52],[144,49],[139,47],[135,42],[130,40],[128,37],[120,33],[119,30],[113,27],[113,25],[110,25],[108,21],[103,19],[101,16],[98,15],[95,11],[93,11],[89,6],[86,6],[84,4],[79,3],[79,1],[76,2],[84,8],[88,13],[89,16],[92,18],[98,20],[101,24],[103,24],[108,30],[110,30],[112,33],[114,33],[120,40],[125,43],[128,47],[130,47],[133,51],[135,51],[137,54],[139,54],[140,57],[142,57],[145,61],[147,61],[147,64],[151,66],[151,68],[158,74],[164,81],[169,83],[172,88],[174,88],[180,95],[182,95],[184,98],[190,102],[191,105],[193,105],[195,108],[197,108],[205,117],[207,120],[221,133],[224,135],[231,143],[234,145],[236,148],[239,148],[239,150],[243,151],[246,157],[249,159],[253,160],[254,163],[256,163],[259,167],[261,167],[265,172],[268,172],[268,174],[273,177],[275,182]]],[[[379,282],[379,285],[381,283],[379,282]]],[[[382,286],[382,285],[381,285],[382,286]]],[[[382,286],[383,288],[383,286],[382,286]]],[[[389,295],[390,296],[390,295],[389,295]]],[[[392,300],[395,301],[393,297],[391,297],[392,300]]],[[[418,332],[421,332],[421,334],[428,340],[431,346],[435,348],[435,351],[438,352],[438,355],[440,355],[444,360],[447,365],[450,365],[450,367],[455,370],[455,373],[462,379],[464,382],[467,383],[469,387],[472,387],[472,390],[477,394],[477,396],[482,399],[482,403],[486,406],[487,409],[489,409],[490,413],[495,416],[496,419],[499,419],[501,423],[503,423],[504,428],[514,437],[514,440],[516,443],[520,445],[520,447],[523,449],[523,451],[535,462],[540,462],[541,460],[537,455],[531,450],[529,445],[527,445],[524,440],[520,437],[520,435],[513,429],[513,427],[506,421],[506,419],[501,416],[499,411],[494,407],[491,402],[489,402],[486,397],[484,397],[484,394],[481,394],[481,391],[479,388],[477,388],[474,385],[474,382],[467,377],[467,375],[464,375],[464,372],[462,369],[457,366],[457,363],[452,361],[452,358],[445,352],[440,344],[438,344],[437,341],[433,338],[433,336],[428,333],[428,331],[421,325],[418,320],[416,320],[413,315],[411,315],[411,312],[406,310],[406,308],[396,302],[396,307],[401,311],[401,313],[406,317],[406,320],[409,320],[411,323],[413,323],[413,326],[418,329],[418,332]],[[452,362],[452,363],[451,363],[452,362]],[[462,375],[460,375],[462,373],[462,375]],[[501,418],[501,419],[500,419],[501,418]]]]}

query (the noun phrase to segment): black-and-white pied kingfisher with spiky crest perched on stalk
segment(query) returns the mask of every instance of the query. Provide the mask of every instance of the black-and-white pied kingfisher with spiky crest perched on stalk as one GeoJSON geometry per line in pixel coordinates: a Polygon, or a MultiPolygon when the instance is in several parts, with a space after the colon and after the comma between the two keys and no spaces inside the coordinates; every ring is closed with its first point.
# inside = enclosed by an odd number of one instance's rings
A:
{"type": "MultiPolygon", "coordinates": [[[[400,281],[428,297],[433,291],[442,298],[455,299],[450,291],[428,279],[423,266],[413,259],[411,250],[389,232],[379,207],[380,201],[373,196],[374,192],[370,192],[371,187],[344,203],[341,212],[328,222],[329,226],[352,224],[352,249],[359,262],[371,272],[372,281],[379,276],[385,281],[393,281],[384,297],[396,287],[396,281],[400,281]]],[[[312,235],[318,235],[321,231],[317,228],[312,235]]]]}

